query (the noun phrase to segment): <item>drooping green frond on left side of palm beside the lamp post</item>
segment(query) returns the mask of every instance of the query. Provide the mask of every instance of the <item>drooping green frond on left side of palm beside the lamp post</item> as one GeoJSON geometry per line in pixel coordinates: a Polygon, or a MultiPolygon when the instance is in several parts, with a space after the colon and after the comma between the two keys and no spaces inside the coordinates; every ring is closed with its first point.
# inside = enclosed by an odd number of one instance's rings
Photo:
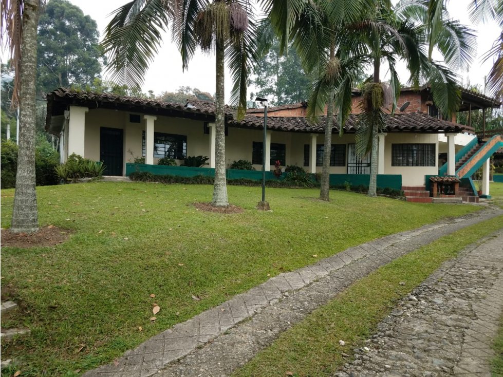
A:
{"type": "Polygon", "coordinates": [[[138,87],[161,44],[170,9],[165,0],[133,0],[117,9],[101,45],[112,80],[138,87]]]}

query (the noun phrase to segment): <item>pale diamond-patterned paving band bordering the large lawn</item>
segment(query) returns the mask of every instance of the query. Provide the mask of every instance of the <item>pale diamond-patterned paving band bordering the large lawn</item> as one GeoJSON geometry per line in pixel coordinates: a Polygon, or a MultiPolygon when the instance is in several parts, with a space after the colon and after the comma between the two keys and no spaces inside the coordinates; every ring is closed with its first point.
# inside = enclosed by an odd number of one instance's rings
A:
{"type": "Polygon", "coordinates": [[[166,365],[215,340],[216,337],[245,319],[252,318],[268,306],[278,303],[291,292],[307,287],[314,281],[337,272],[357,260],[372,254],[382,253],[395,243],[406,242],[413,248],[417,248],[422,244],[416,245],[413,242],[414,237],[429,232],[436,232],[439,233],[439,236],[443,236],[501,214],[503,214],[501,210],[489,209],[459,218],[443,219],[414,230],[388,235],[348,248],[310,266],[274,276],[263,284],[238,294],[217,307],[208,309],[185,322],[162,331],[134,350],[126,351],[113,364],[90,370],[84,373],[84,376],[151,376],[166,365]]]}

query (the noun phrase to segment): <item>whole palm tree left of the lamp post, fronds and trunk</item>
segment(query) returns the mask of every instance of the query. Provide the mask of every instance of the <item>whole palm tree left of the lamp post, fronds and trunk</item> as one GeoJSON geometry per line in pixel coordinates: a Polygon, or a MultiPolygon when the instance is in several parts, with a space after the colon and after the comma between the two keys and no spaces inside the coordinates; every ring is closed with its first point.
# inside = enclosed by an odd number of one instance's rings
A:
{"type": "Polygon", "coordinates": [[[228,206],[225,169],[224,64],[233,80],[231,102],[238,105],[237,118],[246,114],[246,88],[255,58],[255,27],[247,0],[182,1],[133,0],[115,12],[103,40],[114,78],[138,86],[160,46],[162,31],[173,22],[173,39],[183,69],[197,47],[216,55],[215,184],[212,204],[228,206]]]}

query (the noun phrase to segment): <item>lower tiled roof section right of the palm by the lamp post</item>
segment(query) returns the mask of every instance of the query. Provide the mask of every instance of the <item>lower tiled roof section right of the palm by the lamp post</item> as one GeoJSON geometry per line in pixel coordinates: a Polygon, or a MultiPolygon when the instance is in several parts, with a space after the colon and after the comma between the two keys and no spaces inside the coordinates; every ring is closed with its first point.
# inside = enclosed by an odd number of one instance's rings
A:
{"type": "MultiPolygon", "coordinates": [[[[333,132],[339,133],[337,126],[337,117],[333,118],[333,132]]],[[[246,128],[263,129],[264,118],[254,115],[248,115],[242,121],[231,120],[229,125],[246,128]]],[[[312,123],[304,117],[271,117],[267,118],[267,128],[278,131],[296,131],[305,133],[324,133],[325,117],[320,117],[318,123],[312,123]]],[[[438,133],[438,132],[464,132],[468,127],[451,123],[430,117],[424,113],[395,114],[386,115],[387,132],[419,132],[419,133],[438,133]]],[[[358,116],[350,115],[344,126],[344,131],[354,133],[358,128],[358,116]]]]}

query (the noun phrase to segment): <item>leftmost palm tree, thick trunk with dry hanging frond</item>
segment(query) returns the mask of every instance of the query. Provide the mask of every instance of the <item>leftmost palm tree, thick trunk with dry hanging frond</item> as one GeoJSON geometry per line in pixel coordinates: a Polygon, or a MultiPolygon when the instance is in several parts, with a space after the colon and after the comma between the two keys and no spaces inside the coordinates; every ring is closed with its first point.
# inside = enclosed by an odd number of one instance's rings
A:
{"type": "Polygon", "coordinates": [[[33,233],[39,229],[35,191],[36,29],[39,11],[39,0],[2,0],[2,42],[5,37],[15,72],[13,106],[20,108],[11,224],[14,233],[33,233]]]}

